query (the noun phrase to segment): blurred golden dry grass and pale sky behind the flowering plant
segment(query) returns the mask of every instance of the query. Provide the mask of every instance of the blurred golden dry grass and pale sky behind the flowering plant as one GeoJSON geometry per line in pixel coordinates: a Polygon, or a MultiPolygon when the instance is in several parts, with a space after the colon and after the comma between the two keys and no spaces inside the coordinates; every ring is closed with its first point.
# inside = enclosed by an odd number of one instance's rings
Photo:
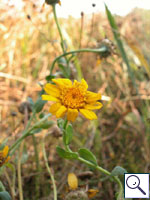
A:
{"type": "MultiPolygon", "coordinates": [[[[109,171],[119,165],[131,173],[150,173],[150,3],[146,0],[104,2],[62,0],[62,5],[57,5],[67,51],[98,48],[103,44],[111,49],[103,56],[80,53],[70,64],[72,80],[79,79],[80,68],[89,90],[110,98],[102,102],[104,106],[97,112],[96,122],[89,123],[78,117],[74,123],[72,149],[89,148],[99,164],[109,171]],[[136,89],[114,40],[104,2],[114,14],[136,89]]],[[[52,61],[62,50],[52,9],[43,1],[1,0],[0,13],[0,142],[7,140],[11,146],[24,129],[24,115],[19,109],[21,103],[29,97],[36,100],[40,85],[46,83],[52,61]]],[[[57,66],[54,73],[59,74],[57,66]]],[[[45,112],[48,109],[49,106],[44,107],[45,112]]],[[[53,119],[56,121],[55,117],[53,119]]],[[[48,137],[48,161],[55,174],[59,199],[65,199],[68,193],[69,172],[78,175],[80,186],[99,190],[93,199],[115,199],[114,183],[105,180],[104,175],[93,171],[88,179],[82,179],[80,175],[88,171],[88,167],[58,157],[55,148],[62,138],[54,125],[36,135],[40,172],[36,171],[32,140],[26,139],[22,158],[25,200],[53,199],[41,151],[43,135],[48,137]],[[40,187],[35,198],[37,175],[40,176],[40,187]]],[[[17,156],[10,162],[16,171],[17,156]]],[[[11,169],[6,170],[7,175],[15,177],[15,171],[11,175],[11,169]]],[[[1,179],[10,191],[7,175],[1,174],[1,179]]],[[[14,188],[15,199],[19,199],[16,182],[14,188]]]]}

